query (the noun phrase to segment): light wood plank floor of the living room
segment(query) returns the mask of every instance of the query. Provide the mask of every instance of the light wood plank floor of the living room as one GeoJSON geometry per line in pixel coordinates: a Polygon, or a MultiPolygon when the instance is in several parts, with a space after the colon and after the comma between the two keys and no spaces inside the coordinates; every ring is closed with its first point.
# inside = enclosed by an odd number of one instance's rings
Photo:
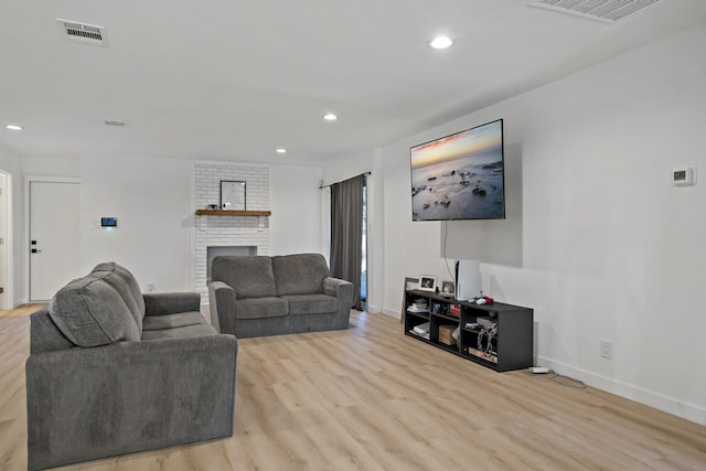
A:
{"type": "MultiPolygon", "coordinates": [[[[0,312],[0,469],[26,469],[35,307],[0,312]]],[[[706,427],[525,371],[494,373],[353,313],[239,342],[233,437],[81,470],[706,470],[706,427]]]]}

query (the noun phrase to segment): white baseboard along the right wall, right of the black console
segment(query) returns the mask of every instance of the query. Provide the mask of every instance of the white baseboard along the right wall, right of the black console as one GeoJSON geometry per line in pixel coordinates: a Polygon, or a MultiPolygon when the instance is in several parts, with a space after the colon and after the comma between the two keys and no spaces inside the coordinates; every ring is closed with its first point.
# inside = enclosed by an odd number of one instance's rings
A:
{"type": "Polygon", "coordinates": [[[556,373],[573,379],[582,381],[586,385],[605,390],[625,399],[653,407],[673,416],[706,426],[706,409],[694,404],[686,404],[673,397],[666,397],[638,386],[623,383],[586,370],[577,368],[561,362],[537,356],[537,365],[546,366],[556,373]]]}

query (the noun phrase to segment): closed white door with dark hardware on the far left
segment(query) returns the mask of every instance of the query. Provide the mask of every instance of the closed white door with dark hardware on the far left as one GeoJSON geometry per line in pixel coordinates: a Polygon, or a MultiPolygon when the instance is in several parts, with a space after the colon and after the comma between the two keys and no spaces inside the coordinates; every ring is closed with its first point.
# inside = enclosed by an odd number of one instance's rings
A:
{"type": "Polygon", "coordinates": [[[78,278],[78,183],[30,182],[30,301],[78,278]]]}

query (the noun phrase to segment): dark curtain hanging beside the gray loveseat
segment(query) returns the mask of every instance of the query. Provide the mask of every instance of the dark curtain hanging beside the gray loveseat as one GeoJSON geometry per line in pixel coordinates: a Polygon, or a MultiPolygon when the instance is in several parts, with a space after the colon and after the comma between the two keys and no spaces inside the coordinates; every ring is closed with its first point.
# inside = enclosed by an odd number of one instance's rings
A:
{"type": "Polygon", "coordinates": [[[361,310],[363,185],[365,175],[331,185],[331,276],[353,283],[353,306],[361,310]]]}

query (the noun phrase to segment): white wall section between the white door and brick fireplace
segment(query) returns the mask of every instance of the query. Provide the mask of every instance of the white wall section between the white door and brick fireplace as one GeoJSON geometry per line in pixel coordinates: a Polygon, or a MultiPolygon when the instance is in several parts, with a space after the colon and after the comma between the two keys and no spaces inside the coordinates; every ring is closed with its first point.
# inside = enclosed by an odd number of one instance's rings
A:
{"type": "Polygon", "coordinates": [[[128,268],[147,290],[191,286],[192,161],[139,156],[82,156],[81,266],[101,261],[128,268]],[[92,228],[101,216],[117,229],[92,228]]]}

